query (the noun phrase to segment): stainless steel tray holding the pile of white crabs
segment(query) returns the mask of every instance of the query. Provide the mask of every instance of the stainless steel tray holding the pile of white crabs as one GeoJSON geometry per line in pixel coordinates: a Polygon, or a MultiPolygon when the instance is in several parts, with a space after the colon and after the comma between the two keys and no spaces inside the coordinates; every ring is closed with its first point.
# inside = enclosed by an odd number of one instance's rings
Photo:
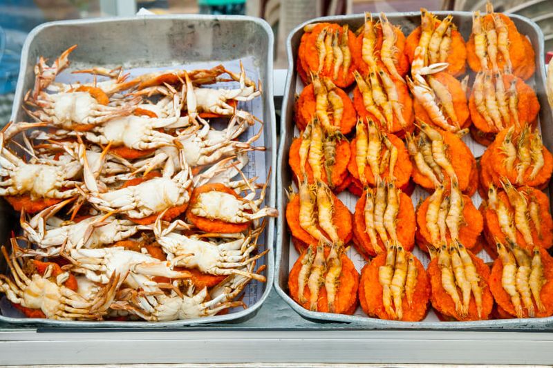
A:
{"type": "MultiPolygon", "coordinates": [[[[24,94],[34,83],[33,67],[42,55],[54,59],[66,48],[77,43],[71,61],[78,66],[119,66],[124,68],[167,67],[202,62],[224,62],[246,57],[253,58],[253,68],[261,80],[266,151],[264,161],[272,168],[277,164],[277,133],[274,122],[272,95],[272,60],[274,36],[272,29],[262,19],[240,16],[167,15],[127,18],[102,18],[78,21],[57,21],[38,26],[28,35],[21,55],[21,72],[17,81],[12,120],[26,119],[21,109],[24,94]]],[[[70,68],[71,70],[71,68],[70,68]]],[[[270,177],[268,206],[275,206],[275,176],[270,177]]],[[[8,236],[14,229],[14,212],[5,201],[0,203],[0,240],[9,244],[8,236]]],[[[263,288],[261,298],[254,300],[245,310],[223,316],[177,320],[171,322],[86,322],[56,321],[41,318],[10,318],[0,320],[10,323],[45,324],[59,327],[182,327],[245,319],[252,316],[267,298],[274,278],[274,219],[270,218],[265,230],[265,247],[270,249],[263,258],[267,264],[267,282],[252,281],[249,287],[263,288]]],[[[3,260],[1,260],[3,262],[3,260]]],[[[261,264],[261,262],[260,262],[261,264]]],[[[0,264],[5,270],[6,264],[0,264]]],[[[259,294],[258,294],[259,295],[259,294]]]]}

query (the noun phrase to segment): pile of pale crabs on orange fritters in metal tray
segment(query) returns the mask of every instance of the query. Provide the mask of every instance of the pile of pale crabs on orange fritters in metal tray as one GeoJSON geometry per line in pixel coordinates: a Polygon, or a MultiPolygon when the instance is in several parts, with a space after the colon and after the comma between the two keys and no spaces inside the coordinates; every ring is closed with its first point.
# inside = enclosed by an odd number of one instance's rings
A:
{"type": "Polygon", "coordinates": [[[21,224],[1,249],[0,292],[27,317],[57,320],[246,307],[246,285],[265,281],[265,217],[278,214],[263,207],[268,183],[242,171],[265,149],[263,124],[240,109],[259,86],[242,65],[135,77],[98,67],[75,71],[91,83],[60,83],[75,48],[39,58],[23,106],[34,122],[0,132],[0,195],[21,224]]]}

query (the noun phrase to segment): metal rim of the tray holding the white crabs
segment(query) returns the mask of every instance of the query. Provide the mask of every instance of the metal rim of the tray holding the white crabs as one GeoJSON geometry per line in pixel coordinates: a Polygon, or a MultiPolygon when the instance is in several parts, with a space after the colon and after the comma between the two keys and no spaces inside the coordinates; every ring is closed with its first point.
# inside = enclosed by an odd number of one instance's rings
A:
{"type": "MultiPolygon", "coordinates": [[[[29,48],[30,43],[32,39],[34,39],[42,30],[46,28],[50,28],[53,26],[72,26],[77,24],[95,24],[95,23],[110,23],[113,21],[147,21],[147,20],[154,20],[154,21],[162,21],[164,19],[176,19],[176,20],[182,20],[182,21],[196,21],[196,20],[205,20],[205,21],[225,21],[225,22],[251,22],[255,23],[256,25],[260,26],[263,31],[268,36],[268,55],[266,60],[261,60],[261,62],[265,62],[267,65],[268,70],[268,80],[265,83],[265,101],[268,101],[268,104],[264,103],[264,108],[266,110],[265,115],[268,116],[268,121],[264,121],[265,128],[270,128],[269,132],[269,142],[265,142],[266,146],[270,144],[270,149],[272,149],[272,159],[271,159],[271,166],[276,167],[277,166],[277,150],[275,149],[277,146],[277,127],[275,124],[275,118],[274,118],[274,102],[273,102],[273,90],[272,90],[272,65],[273,65],[273,48],[274,48],[274,33],[272,32],[272,28],[270,27],[269,23],[267,23],[265,20],[256,18],[256,17],[248,17],[248,16],[241,16],[241,15],[205,15],[205,14],[178,14],[178,15],[142,15],[142,16],[135,16],[135,17],[105,17],[105,18],[97,18],[97,19],[76,19],[76,20],[68,20],[68,21],[53,21],[53,22],[47,22],[43,23],[31,30],[31,32],[28,34],[24,46],[23,51],[21,52],[21,64],[20,64],[20,70],[25,70],[26,68],[26,61],[29,57],[29,48]]],[[[15,99],[14,103],[12,105],[12,119],[15,118],[17,115],[17,109],[21,105],[21,101],[24,96],[24,72],[19,73],[19,77],[17,79],[17,88],[15,91],[15,99]]],[[[265,102],[264,101],[264,102],[265,102]]],[[[269,206],[274,207],[276,205],[276,173],[273,170],[270,177],[270,189],[269,189],[269,196],[268,196],[268,204],[269,206]]],[[[269,249],[269,253],[267,256],[267,263],[268,263],[268,271],[267,271],[267,281],[265,282],[265,291],[263,291],[263,295],[255,304],[248,307],[247,309],[243,311],[238,311],[236,313],[229,313],[225,314],[223,316],[211,316],[211,317],[204,317],[204,318],[194,318],[190,320],[175,320],[175,321],[169,321],[169,322],[145,322],[145,321],[133,321],[133,322],[122,322],[122,321],[101,321],[101,322],[94,322],[94,321],[64,321],[64,320],[50,320],[45,318],[11,318],[2,316],[0,314],[0,321],[2,322],[8,322],[13,324],[24,324],[24,325],[49,325],[52,327],[74,327],[74,328],[82,328],[82,327],[94,327],[94,328],[117,328],[117,329],[126,329],[126,328],[162,328],[162,327],[194,327],[197,325],[205,325],[208,323],[216,323],[216,322],[225,322],[225,321],[232,321],[232,320],[238,320],[239,318],[245,318],[247,316],[250,316],[252,313],[254,313],[259,307],[261,307],[261,304],[265,302],[267,297],[269,296],[270,291],[272,290],[272,286],[274,283],[274,270],[275,270],[275,264],[274,264],[274,256],[271,256],[271,253],[274,253],[274,235],[275,235],[275,220],[273,217],[270,217],[267,229],[265,230],[267,232],[267,249],[269,249]]]]}

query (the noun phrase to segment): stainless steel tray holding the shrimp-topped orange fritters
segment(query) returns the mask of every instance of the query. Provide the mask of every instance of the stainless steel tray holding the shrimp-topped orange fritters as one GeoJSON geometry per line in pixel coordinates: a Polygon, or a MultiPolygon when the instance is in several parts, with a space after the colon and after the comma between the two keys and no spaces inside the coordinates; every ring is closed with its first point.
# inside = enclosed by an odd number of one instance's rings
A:
{"type": "MultiPolygon", "coordinates": [[[[444,18],[447,14],[453,14],[453,23],[456,23],[458,30],[461,32],[465,40],[469,39],[471,33],[471,12],[434,12],[438,17],[444,18]]],[[[377,15],[377,14],[375,14],[377,15]]],[[[545,95],[545,64],[543,51],[543,34],[533,21],[516,14],[507,14],[516,24],[518,30],[527,35],[534,46],[536,52],[536,74],[534,76],[534,86],[538,94],[538,99],[541,104],[539,119],[541,130],[543,133],[543,142],[547,149],[553,150],[553,115],[549,104],[547,104],[547,96],[545,95]]],[[[393,12],[386,14],[391,23],[401,26],[405,35],[417,26],[420,25],[419,12],[393,12]]],[[[367,316],[346,316],[333,313],[321,313],[308,311],[299,304],[294,302],[288,296],[288,273],[290,270],[290,235],[288,233],[288,225],[285,220],[284,209],[288,203],[288,197],[285,193],[285,188],[292,183],[290,168],[288,166],[288,151],[292,138],[294,137],[294,96],[301,92],[301,81],[297,78],[296,61],[297,49],[303,35],[303,26],[309,23],[317,22],[334,22],[339,24],[348,24],[350,29],[357,29],[362,26],[364,21],[363,14],[337,16],[337,17],[321,17],[312,19],[301,24],[288,36],[286,41],[286,51],[288,54],[288,77],[284,90],[283,113],[281,117],[281,142],[279,146],[279,166],[277,182],[279,183],[279,191],[277,194],[277,203],[281,213],[277,223],[277,269],[275,289],[279,295],[303,318],[308,320],[348,322],[354,328],[361,329],[552,329],[553,317],[551,318],[525,318],[511,320],[485,320],[485,321],[470,321],[470,322],[402,322],[379,320],[367,316]]],[[[468,69],[468,68],[467,68],[468,69]]],[[[552,190],[550,184],[549,191],[552,190]]]]}

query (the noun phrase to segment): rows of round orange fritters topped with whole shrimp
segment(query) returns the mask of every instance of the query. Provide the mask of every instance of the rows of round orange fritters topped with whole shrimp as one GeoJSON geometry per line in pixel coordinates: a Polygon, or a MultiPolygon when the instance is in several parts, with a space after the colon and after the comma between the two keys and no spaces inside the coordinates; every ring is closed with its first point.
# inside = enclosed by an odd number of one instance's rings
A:
{"type": "Polygon", "coordinates": [[[405,37],[385,14],[366,14],[357,30],[306,26],[297,55],[306,87],[288,157],[297,191],[285,216],[300,253],[290,296],[311,311],[361,304],[386,320],[423,320],[429,304],[441,320],[552,316],[542,190],[553,156],[525,82],[534,50],[514,22],[488,4],[465,41],[451,15],[422,9],[405,37]],[[469,132],[487,146],[479,159],[469,132]],[[415,185],[429,194],[416,206],[415,185]],[[337,197],[345,190],[357,196],[353,214],[337,197]],[[360,275],[350,244],[366,260],[360,275]]]}

